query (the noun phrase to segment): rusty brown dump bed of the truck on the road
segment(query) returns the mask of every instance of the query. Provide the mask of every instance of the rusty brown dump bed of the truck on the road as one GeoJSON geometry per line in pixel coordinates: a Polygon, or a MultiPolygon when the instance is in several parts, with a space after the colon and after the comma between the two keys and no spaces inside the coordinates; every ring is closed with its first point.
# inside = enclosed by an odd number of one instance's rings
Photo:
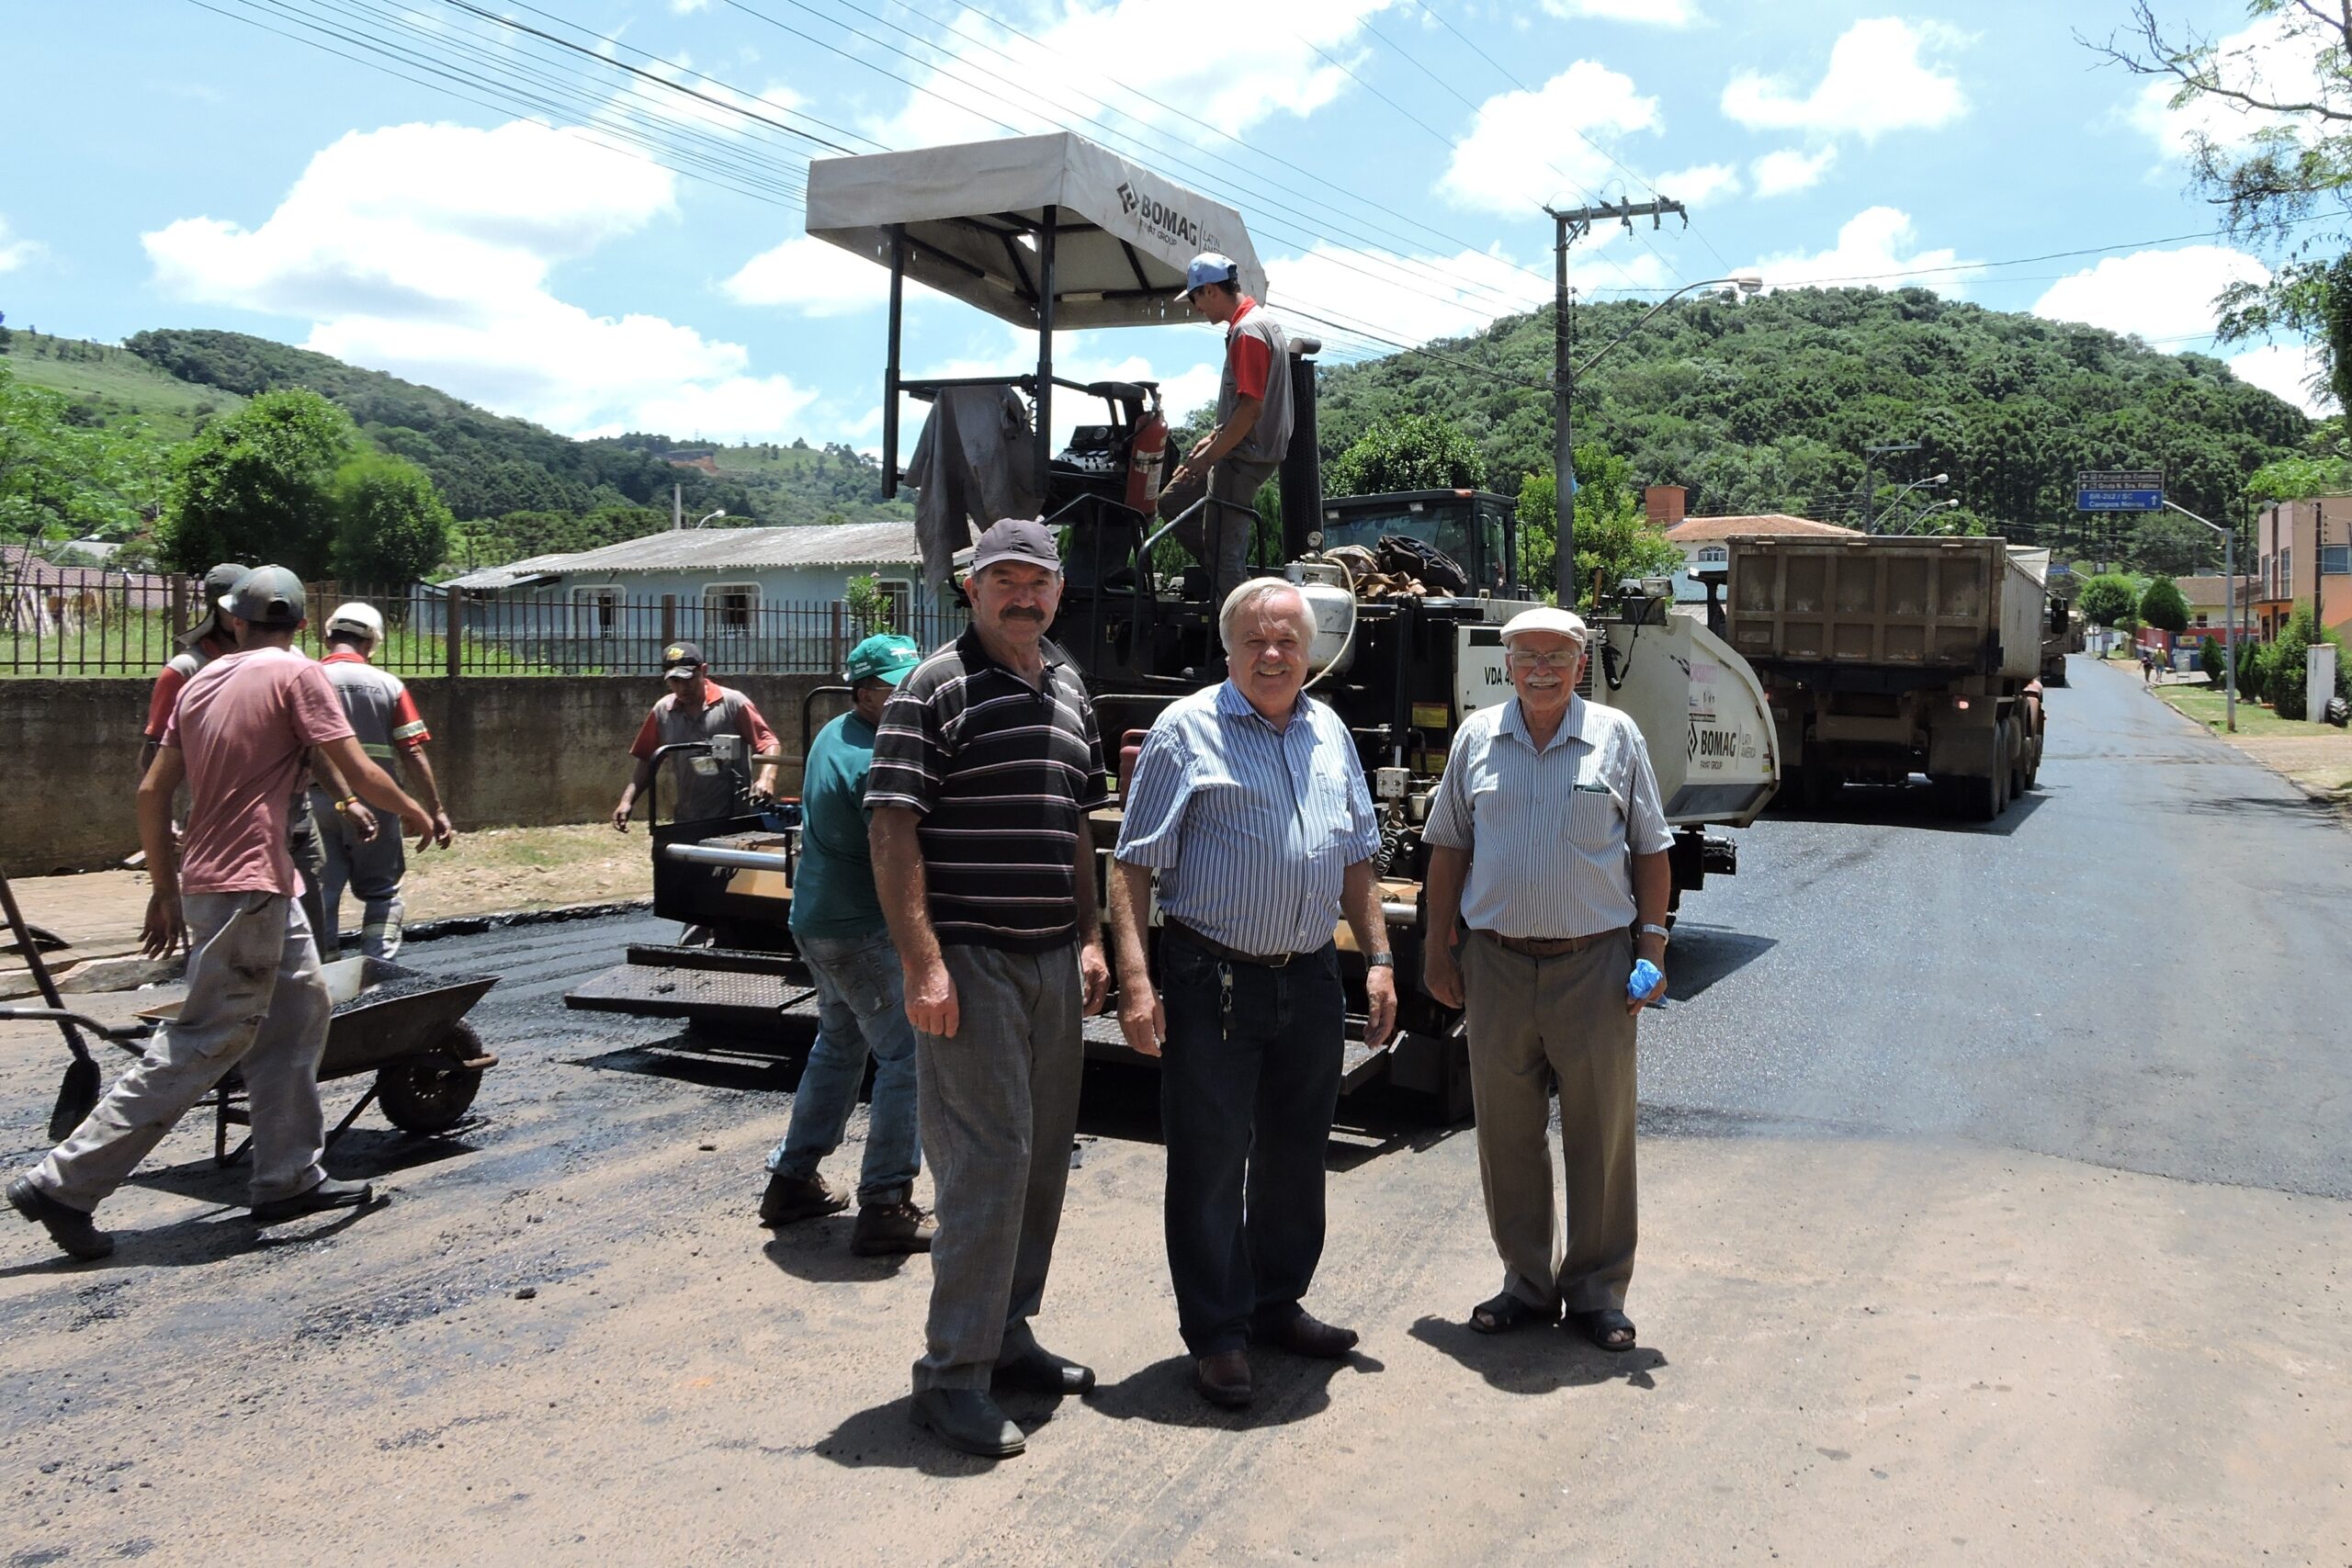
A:
{"type": "Polygon", "coordinates": [[[2042,585],[1999,538],[1736,536],[1726,632],[1750,663],[2032,679],[2042,585]]]}

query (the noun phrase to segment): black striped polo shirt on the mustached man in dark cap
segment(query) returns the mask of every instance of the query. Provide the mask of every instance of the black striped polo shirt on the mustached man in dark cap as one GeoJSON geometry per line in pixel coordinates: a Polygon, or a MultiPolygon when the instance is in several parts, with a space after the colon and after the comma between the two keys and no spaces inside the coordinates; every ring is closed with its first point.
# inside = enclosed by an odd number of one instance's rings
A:
{"type": "Polygon", "coordinates": [[[1087,689],[1058,649],[1044,656],[1033,686],[967,630],[882,710],[866,806],[922,818],[943,945],[1049,952],[1077,936],[1077,830],[1110,780],[1087,689]]]}

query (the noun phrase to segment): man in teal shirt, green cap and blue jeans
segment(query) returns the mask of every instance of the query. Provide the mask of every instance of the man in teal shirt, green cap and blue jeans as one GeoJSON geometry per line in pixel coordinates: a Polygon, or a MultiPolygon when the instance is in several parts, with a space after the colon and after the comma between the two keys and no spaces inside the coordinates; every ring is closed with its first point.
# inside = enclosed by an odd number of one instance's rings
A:
{"type": "Polygon", "coordinates": [[[842,670],[851,710],[816,731],[800,780],[800,867],[793,872],[793,943],[816,983],[816,1046],[800,1070],[793,1124],[767,1157],[762,1225],[840,1213],[818,1164],[842,1147],[842,1131],[875,1060],[858,1220],[849,1251],[927,1253],[938,1225],[915,1206],[922,1133],[915,1121],[915,1025],[889,922],[875,896],[866,778],[875,726],[898,682],[922,663],[913,637],[880,632],[849,649],[842,670]]]}

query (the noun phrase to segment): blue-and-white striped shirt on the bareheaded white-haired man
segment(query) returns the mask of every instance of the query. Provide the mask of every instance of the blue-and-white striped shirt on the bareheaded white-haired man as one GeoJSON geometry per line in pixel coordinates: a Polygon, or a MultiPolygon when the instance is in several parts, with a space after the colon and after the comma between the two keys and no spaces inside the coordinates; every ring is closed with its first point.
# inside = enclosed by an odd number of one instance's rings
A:
{"type": "Polygon", "coordinates": [[[1160,907],[1209,940],[1279,957],[1331,940],[1348,867],[1378,849],[1341,717],[1301,696],[1275,729],[1221,682],[1143,738],[1117,858],[1157,867],[1160,907]]]}

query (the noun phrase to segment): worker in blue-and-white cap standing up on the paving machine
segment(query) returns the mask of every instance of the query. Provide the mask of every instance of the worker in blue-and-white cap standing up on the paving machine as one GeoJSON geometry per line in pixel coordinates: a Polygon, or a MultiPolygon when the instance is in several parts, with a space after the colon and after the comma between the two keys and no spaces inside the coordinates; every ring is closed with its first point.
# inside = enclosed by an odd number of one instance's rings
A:
{"type": "Polygon", "coordinates": [[[1200,505],[1176,527],[1176,538],[1209,569],[1209,604],[1223,604],[1249,576],[1258,489],[1291,444],[1291,343],[1282,324],[1242,292],[1242,268],[1232,256],[1192,256],[1185,301],[1225,329],[1225,376],[1216,388],[1216,425],[1169,475],[1160,515],[1183,517],[1200,505]]]}

